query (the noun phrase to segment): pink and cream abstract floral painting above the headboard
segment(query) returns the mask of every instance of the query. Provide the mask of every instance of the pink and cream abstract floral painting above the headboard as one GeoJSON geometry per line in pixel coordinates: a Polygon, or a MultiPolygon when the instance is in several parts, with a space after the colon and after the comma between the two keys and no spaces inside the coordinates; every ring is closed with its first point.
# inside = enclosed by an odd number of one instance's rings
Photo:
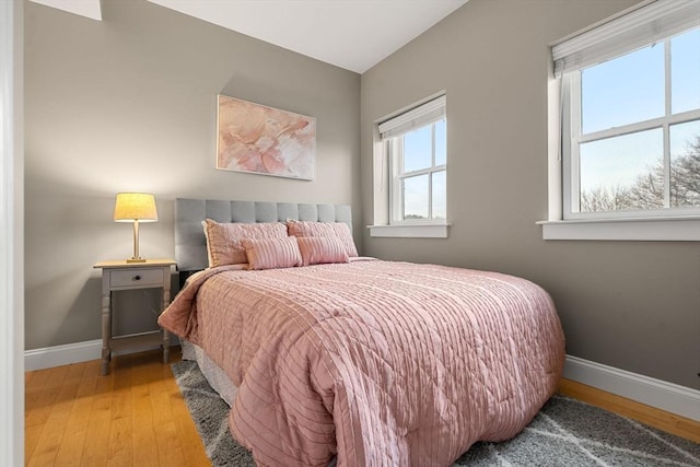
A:
{"type": "Polygon", "coordinates": [[[314,179],[316,119],[219,94],[217,168],[314,179]]]}

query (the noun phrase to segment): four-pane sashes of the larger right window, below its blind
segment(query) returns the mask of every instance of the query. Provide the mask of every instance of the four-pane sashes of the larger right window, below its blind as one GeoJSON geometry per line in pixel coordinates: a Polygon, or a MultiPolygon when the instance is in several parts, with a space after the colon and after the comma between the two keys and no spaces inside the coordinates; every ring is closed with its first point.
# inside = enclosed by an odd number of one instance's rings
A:
{"type": "Polygon", "coordinates": [[[700,27],[564,74],[565,219],[700,208],[700,27]]]}

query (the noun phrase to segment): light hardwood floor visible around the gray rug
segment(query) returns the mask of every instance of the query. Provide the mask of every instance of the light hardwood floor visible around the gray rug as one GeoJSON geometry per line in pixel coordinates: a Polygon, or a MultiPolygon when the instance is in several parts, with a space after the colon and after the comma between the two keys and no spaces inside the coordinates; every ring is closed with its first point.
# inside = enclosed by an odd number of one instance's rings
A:
{"type": "MultiPolygon", "coordinates": [[[[172,361],[179,351],[171,353],[172,361]]],[[[27,466],[209,466],[159,351],[27,372],[27,466]]],[[[563,380],[560,392],[700,443],[700,423],[563,380]]]]}

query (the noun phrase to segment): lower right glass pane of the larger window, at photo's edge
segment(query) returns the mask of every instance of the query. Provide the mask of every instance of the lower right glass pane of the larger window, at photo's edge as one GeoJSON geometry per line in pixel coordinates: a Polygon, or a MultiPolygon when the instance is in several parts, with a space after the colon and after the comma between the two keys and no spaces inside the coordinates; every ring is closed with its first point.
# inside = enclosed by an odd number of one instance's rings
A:
{"type": "Polygon", "coordinates": [[[700,207],[700,120],[670,127],[670,207],[700,207]]]}

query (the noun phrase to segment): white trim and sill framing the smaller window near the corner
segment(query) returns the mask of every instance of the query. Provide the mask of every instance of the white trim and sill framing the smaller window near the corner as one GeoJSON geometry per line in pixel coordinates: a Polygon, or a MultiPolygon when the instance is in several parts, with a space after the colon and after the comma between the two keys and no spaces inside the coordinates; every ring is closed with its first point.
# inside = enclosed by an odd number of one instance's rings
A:
{"type": "MultiPolygon", "coordinates": [[[[413,219],[396,221],[392,220],[393,202],[396,196],[392,194],[392,166],[387,143],[382,141],[382,136],[392,137],[405,132],[412,126],[408,124],[416,120],[417,114],[419,125],[427,125],[436,119],[438,115],[444,115],[445,92],[441,91],[432,96],[404,108],[393,115],[378,119],[374,125],[374,223],[368,225],[372,237],[402,237],[402,238],[447,238],[450,222],[439,219],[413,219]],[[428,105],[425,105],[428,104],[428,105]],[[422,112],[416,112],[418,107],[424,106],[422,112]],[[392,121],[389,124],[389,120],[392,121]]],[[[445,168],[445,166],[432,167],[431,171],[445,168]]]]}

